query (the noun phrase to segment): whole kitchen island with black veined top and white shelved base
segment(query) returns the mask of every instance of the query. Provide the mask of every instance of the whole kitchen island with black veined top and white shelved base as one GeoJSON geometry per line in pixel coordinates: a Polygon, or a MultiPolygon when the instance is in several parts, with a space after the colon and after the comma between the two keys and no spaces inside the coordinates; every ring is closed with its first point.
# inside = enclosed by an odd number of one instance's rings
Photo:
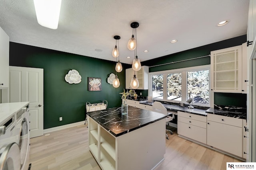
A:
{"type": "Polygon", "coordinates": [[[152,170],[165,154],[164,114],[128,106],[88,112],[89,149],[102,170],[152,170]]]}

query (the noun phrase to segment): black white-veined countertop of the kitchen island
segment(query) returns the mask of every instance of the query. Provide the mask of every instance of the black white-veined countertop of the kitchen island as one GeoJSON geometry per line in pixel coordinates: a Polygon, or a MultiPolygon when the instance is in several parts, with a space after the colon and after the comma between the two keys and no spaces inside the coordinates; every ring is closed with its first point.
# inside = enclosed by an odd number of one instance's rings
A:
{"type": "Polygon", "coordinates": [[[124,135],[150,123],[165,119],[167,115],[128,106],[128,115],[121,114],[121,108],[110,108],[86,113],[115,137],[124,135]]]}

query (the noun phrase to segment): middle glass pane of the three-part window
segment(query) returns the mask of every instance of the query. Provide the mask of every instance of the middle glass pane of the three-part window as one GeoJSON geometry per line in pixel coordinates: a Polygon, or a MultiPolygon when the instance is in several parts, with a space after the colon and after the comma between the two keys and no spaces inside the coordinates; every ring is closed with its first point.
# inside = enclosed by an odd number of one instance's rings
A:
{"type": "Polygon", "coordinates": [[[167,74],[167,99],[181,101],[181,79],[182,74],[167,74]]]}

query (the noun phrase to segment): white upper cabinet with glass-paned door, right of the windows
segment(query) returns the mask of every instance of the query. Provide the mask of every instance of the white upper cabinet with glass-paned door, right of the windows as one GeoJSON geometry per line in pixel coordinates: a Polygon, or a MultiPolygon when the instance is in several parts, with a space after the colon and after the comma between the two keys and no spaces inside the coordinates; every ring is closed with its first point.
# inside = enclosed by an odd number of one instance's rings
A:
{"type": "Polygon", "coordinates": [[[242,45],[211,51],[211,90],[242,92],[242,45]]]}

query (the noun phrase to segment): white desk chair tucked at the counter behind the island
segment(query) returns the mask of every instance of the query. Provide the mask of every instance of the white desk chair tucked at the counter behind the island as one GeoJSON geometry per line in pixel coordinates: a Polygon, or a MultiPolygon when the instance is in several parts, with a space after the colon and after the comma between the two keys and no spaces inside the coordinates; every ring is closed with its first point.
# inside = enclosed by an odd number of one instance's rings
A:
{"type": "MultiPolygon", "coordinates": [[[[160,102],[154,102],[152,107],[153,107],[153,111],[167,115],[166,122],[172,121],[172,119],[174,118],[174,114],[168,113],[167,109],[160,102]]],[[[166,129],[166,131],[169,131],[171,135],[173,134],[172,131],[169,129],[166,129]]],[[[169,139],[167,133],[165,135],[166,135],[166,139],[169,139]]]]}

